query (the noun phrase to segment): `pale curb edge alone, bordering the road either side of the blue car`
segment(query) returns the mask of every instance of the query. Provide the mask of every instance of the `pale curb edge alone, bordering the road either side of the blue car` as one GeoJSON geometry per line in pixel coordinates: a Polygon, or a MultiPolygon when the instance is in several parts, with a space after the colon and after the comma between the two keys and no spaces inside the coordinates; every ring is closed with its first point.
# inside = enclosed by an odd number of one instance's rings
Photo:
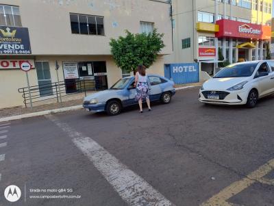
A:
{"type": "MultiPolygon", "coordinates": [[[[184,87],[180,87],[180,88],[175,88],[175,90],[185,90],[188,88],[195,88],[195,87],[199,87],[199,86],[184,86],[184,87]]],[[[8,122],[11,120],[21,120],[23,118],[30,118],[30,117],[35,117],[35,116],[44,116],[47,114],[55,114],[55,113],[60,113],[60,112],[69,112],[69,111],[73,111],[73,110],[79,110],[82,109],[83,106],[82,105],[77,105],[77,106],[73,106],[73,107],[64,107],[64,108],[59,108],[59,109],[55,109],[55,110],[45,110],[42,112],[33,112],[33,113],[29,113],[29,114],[20,114],[20,115],[16,115],[16,116],[8,116],[8,117],[4,117],[4,118],[0,118],[0,123],[3,122],[8,122]]]]}

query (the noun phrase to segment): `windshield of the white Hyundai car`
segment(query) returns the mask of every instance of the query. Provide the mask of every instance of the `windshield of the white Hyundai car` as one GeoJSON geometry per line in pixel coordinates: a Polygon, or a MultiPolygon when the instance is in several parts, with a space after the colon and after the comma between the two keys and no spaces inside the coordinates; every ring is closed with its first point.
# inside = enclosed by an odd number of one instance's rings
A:
{"type": "Polygon", "coordinates": [[[222,70],[213,78],[227,78],[227,77],[250,77],[258,63],[250,64],[231,64],[222,70]]]}

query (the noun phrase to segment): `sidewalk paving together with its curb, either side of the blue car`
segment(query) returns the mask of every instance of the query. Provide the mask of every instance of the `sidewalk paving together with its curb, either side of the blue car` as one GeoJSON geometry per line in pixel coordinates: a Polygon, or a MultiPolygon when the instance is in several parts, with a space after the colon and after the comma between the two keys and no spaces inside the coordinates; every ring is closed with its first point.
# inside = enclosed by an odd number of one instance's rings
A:
{"type": "MultiPolygon", "coordinates": [[[[175,90],[184,90],[201,86],[202,83],[190,83],[187,85],[175,85],[175,90]]],[[[82,108],[83,99],[64,101],[63,103],[50,103],[33,107],[10,107],[0,110],[0,123],[10,120],[18,120],[46,114],[79,110],[82,108]]]]}

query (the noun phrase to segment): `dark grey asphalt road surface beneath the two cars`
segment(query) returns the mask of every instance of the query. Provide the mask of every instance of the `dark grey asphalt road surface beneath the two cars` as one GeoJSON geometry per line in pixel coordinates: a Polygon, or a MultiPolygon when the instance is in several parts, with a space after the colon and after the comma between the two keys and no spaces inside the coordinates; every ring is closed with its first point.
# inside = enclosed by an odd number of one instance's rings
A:
{"type": "Polygon", "coordinates": [[[106,178],[118,166],[173,205],[274,205],[274,97],[247,109],[203,105],[197,93],[178,91],[143,114],[79,110],[0,123],[0,205],[128,205],[125,182],[106,178]],[[77,138],[92,142],[77,146],[77,138]],[[15,203],[3,196],[8,185],[21,189],[15,203]],[[81,197],[30,198],[63,194],[81,197]]]}

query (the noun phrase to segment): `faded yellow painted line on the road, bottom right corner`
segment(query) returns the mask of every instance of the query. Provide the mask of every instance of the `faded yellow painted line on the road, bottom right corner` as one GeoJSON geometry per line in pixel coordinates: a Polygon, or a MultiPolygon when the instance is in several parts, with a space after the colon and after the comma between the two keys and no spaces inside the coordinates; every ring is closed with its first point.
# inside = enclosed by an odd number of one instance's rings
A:
{"type": "MultiPolygon", "coordinates": [[[[251,172],[247,177],[241,179],[240,181],[236,181],[229,185],[227,188],[221,190],[218,194],[212,196],[208,201],[202,203],[201,206],[213,206],[213,205],[222,205],[222,206],[232,206],[235,204],[228,203],[227,200],[232,196],[242,192],[250,185],[255,183],[256,181],[262,182],[265,180],[263,177],[267,175],[271,170],[274,170],[274,159],[271,159],[269,162],[260,166],[256,171],[251,172]],[[263,179],[262,179],[263,178],[263,179]]],[[[263,183],[263,182],[262,182],[263,183]]]]}

